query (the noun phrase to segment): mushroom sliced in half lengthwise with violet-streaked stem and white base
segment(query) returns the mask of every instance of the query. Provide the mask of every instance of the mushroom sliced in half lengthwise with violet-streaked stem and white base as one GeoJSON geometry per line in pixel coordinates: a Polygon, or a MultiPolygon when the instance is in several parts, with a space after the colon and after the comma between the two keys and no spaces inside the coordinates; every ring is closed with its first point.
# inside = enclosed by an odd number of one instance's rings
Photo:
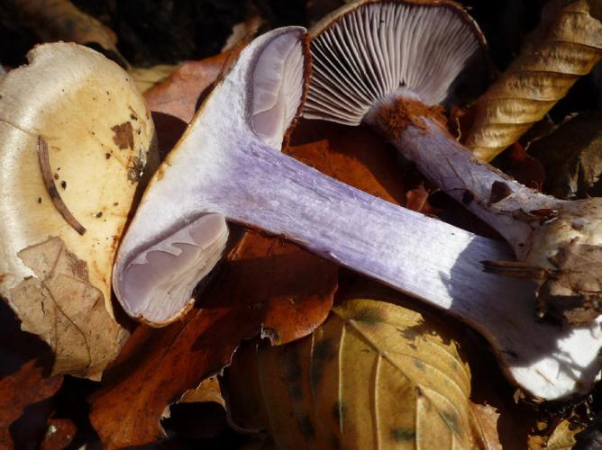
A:
{"type": "Polygon", "coordinates": [[[484,273],[504,243],[382,201],[281,154],[305,83],[304,30],[270,31],[241,53],[153,175],[114,268],[123,309],[176,320],[221,257],[225,220],[288,238],[468,322],[515,383],[553,399],[587,392],[602,338],[535,323],[532,283],[484,273]]]}

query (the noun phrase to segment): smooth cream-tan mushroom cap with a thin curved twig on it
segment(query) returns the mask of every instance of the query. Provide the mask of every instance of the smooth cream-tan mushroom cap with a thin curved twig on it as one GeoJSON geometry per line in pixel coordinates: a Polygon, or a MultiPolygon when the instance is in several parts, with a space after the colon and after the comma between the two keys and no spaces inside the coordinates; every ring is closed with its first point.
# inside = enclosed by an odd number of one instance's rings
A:
{"type": "Polygon", "coordinates": [[[15,309],[12,290],[34,275],[19,252],[57,237],[87,262],[90,284],[112,313],[113,259],[154,139],[150,112],[125,71],[93,49],[43,44],[27,58],[0,79],[0,295],[15,309]],[[83,235],[52,202],[39,136],[83,235]]]}

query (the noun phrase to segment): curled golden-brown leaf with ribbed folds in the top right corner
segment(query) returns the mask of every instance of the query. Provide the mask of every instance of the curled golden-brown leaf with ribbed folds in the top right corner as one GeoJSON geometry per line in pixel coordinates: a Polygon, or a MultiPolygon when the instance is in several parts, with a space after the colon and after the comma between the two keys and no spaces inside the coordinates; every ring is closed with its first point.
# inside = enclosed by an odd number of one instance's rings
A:
{"type": "Polygon", "coordinates": [[[490,161],[550,111],[602,58],[602,2],[559,0],[475,104],[465,144],[490,161]]]}

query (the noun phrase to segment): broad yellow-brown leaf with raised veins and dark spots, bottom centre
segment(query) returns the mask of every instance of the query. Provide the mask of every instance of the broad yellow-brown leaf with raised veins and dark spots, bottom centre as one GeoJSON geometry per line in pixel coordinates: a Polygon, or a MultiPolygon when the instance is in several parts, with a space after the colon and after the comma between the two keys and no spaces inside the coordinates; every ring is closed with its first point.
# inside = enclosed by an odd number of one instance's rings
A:
{"type": "MultiPolygon", "coordinates": [[[[254,388],[278,448],[473,444],[470,370],[445,327],[421,313],[388,302],[346,301],[312,336],[260,347],[255,364],[231,383],[248,389],[244,374],[257,371],[254,388]]],[[[231,401],[234,420],[260,425],[261,412],[241,417],[244,405],[241,410],[232,393],[231,401]]]]}

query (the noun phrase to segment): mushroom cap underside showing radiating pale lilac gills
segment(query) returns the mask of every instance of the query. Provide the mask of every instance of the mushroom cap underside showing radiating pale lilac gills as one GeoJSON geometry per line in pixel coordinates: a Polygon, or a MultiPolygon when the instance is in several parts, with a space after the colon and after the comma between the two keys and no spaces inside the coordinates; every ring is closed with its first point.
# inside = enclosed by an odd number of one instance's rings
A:
{"type": "Polygon", "coordinates": [[[488,67],[479,26],[447,0],[363,0],[310,30],[312,79],[303,115],[358,125],[391,97],[450,101],[462,73],[488,67]]]}

